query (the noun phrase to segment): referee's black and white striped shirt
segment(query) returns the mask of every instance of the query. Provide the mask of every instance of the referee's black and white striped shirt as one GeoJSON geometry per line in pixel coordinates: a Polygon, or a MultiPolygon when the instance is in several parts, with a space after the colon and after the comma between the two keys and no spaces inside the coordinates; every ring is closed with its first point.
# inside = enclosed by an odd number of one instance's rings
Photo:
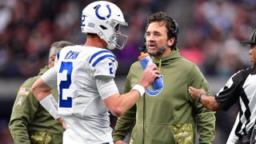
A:
{"type": "Polygon", "coordinates": [[[256,67],[232,75],[215,99],[222,110],[228,110],[239,100],[239,115],[233,129],[237,137],[249,133],[256,120],[256,67]]]}

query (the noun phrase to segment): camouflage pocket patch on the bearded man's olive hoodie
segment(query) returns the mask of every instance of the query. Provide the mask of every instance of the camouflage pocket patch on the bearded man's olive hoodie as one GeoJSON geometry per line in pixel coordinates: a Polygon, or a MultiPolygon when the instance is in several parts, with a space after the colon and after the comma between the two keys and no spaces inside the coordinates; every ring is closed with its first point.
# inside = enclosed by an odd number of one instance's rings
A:
{"type": "Polygon", "coordinates": [[[177,143],[193,143],[193,128],[191,124],[178,124],[170,126],[177,143]]]}

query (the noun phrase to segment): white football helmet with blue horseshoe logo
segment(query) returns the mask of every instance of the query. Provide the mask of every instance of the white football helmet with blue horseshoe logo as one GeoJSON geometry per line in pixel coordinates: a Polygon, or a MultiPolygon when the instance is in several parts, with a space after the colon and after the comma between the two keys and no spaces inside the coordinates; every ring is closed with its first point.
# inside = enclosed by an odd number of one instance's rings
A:
{"type": "Polygon", "coordinates": [[[120,26],[128,26],[122,11],[114,3],[92,2],[82,10],[82,33],[98,34],[107,43],[107,48],[122,50],[128,36],[121,34],[120,26]]]}

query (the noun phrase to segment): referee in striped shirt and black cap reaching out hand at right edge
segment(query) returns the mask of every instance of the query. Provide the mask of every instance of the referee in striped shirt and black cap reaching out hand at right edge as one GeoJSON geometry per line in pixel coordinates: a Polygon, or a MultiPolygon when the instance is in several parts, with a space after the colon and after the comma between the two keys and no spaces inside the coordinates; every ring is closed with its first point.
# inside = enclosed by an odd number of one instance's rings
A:
{"type": "Polygon", "coordinates": [[[239,101],[239,113],[226,143],[256,143],[256,29],[249,41],[253,66],[232,75],[218,94],[206,97],[206,91],[189,87],[191,96],[209,110],[228,110],[239,101]]]}

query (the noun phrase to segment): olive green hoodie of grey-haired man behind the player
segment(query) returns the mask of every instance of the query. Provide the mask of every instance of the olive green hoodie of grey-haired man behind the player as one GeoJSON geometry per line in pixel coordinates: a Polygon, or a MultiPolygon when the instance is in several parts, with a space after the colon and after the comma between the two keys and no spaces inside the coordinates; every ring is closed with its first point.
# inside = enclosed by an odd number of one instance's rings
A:
{"type": "MultiPolygon", "coordinates": [[[[62,143],[62,124],[40,105],[30,91],[34,82],[48,69],[48,66],[45,66],[38,76],[28,78],[18,90],[9,123],[10,134],[15,144],[62,143]]],[[[58,90],[55,88],[51,92],[58,102],[58,90]]]]}

